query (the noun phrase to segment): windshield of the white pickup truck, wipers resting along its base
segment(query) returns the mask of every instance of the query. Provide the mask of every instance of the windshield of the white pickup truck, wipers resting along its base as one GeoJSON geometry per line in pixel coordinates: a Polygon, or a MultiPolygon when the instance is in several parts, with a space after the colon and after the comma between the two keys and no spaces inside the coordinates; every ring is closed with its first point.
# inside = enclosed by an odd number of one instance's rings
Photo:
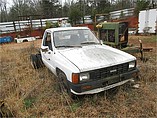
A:
{"type": "Polygon", "coordinates": [[[54,32],[55,47],[72,47],[91,44],[99,44],[99,41],[88,29],[62,30],[54,32]]]}

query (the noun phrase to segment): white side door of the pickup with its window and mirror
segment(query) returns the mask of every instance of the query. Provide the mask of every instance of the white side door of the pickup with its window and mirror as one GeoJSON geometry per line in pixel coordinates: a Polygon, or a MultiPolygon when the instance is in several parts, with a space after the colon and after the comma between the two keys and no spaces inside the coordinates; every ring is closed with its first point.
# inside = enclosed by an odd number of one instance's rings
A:
{"type": "Polygon", "coordinates": [[[52,33],[46,32],[43,37],[43,43],[41,46],[42,60],[47,68],[49,68],[53,73],[55,72],[54,67],[54,53],[52,48],[52,33]]]}

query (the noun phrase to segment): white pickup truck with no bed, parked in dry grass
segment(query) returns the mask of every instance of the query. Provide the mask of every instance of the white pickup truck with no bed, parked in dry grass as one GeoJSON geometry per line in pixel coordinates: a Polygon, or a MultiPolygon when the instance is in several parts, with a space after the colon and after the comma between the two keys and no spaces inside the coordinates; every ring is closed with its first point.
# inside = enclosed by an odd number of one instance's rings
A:
{"type": "Polygon", "coordinates": [[[100,43],[87,27],[46,29],[40,54],[31,55],[37,69],[49,68],[75,95],[94,94],[136,79],[136,58],[100,43]]]}

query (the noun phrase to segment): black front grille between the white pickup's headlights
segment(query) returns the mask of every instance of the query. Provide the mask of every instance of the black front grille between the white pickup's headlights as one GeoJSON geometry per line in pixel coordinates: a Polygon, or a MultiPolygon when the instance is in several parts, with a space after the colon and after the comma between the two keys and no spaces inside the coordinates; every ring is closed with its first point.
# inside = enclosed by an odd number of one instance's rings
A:
{"type": "Polygon", "coordinates": [[[91,79],[103,79],[106,77],[122,74],[128,71],[128,63],[97,69],[90,72],[91,79]]]}

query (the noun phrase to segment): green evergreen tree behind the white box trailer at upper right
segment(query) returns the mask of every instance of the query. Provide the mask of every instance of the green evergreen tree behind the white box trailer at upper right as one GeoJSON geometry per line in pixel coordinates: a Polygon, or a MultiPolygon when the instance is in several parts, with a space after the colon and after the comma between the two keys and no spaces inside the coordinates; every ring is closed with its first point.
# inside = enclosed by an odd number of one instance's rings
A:
{"type": "Polygon", "coordinates": [[[141,10],[145,10],[146,8],[148,8],[148,5],[149,5],[149,1],[137,0],[134,14],[138,16],[141,10]]]}

